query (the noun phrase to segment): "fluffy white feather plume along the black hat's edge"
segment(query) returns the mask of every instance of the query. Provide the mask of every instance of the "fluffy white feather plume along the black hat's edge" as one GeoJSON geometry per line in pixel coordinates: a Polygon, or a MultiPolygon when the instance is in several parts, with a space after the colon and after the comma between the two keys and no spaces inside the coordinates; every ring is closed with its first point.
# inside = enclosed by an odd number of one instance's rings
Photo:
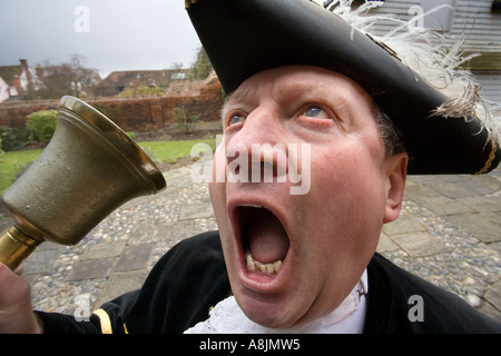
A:
{"type": "MultiPolygon", "coordinates": [[[[390,14],[369,13],[370,10],[384,4],[383,1],[366,1],[357,8],[352,7],[353,0],[315,0],[318,4],[328,3],[327,9],[350,23],[353,30],[369,33],[380,42],[391,48],[402,62],[424,78],[429,85],[449,100],[435,109],[444,118],[465,118],[477,116],[482,127],[489,132],[489,139],[501,141],[501,128],[495,125],[495,116],[500,116],[501,106],[483,100],[480,96],[481,85],[462,65],[479,55],[464,57],[462,52],[463,39],[448,43],[440,33],[420,29],[410,31],[413,18],[409,21],[396,19],[390,14]],[[371,33],[377,21],[392,21],[396,27],[389,33],[377,37],[371,33]]],[[[436,7],[423,14],[425,17],[444,6],[436,7]]],[[[500,121],[501,122],[501,121],[500,121]]]]}

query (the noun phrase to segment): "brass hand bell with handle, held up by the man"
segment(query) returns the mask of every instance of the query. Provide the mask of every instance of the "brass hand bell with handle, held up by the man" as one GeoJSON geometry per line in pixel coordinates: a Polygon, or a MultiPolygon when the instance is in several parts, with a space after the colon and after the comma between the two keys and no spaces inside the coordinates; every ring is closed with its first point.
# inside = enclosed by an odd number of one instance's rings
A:
{"type": "Polygon", "coordinates": [[[165,186],[116,123],[63,97],[49,145],[1,197],[14,225],[0,236],[0,261],[16,269],[42,241],[76,245],[124,202],[165,186]]]}

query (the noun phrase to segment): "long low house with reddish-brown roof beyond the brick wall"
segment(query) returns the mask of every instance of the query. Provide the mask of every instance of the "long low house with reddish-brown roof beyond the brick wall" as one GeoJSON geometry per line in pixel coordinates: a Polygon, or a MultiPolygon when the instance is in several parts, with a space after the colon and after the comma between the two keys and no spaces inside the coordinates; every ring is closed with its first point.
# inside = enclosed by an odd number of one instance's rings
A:
{"type": "Polygon", "coordinates": [[[115,97],[121,91],[137,87],[160,87],[167,89],[173,80],[186,79],[185,70],[128,70],[114,71],[96,87],[99,97],[115,97]]]}

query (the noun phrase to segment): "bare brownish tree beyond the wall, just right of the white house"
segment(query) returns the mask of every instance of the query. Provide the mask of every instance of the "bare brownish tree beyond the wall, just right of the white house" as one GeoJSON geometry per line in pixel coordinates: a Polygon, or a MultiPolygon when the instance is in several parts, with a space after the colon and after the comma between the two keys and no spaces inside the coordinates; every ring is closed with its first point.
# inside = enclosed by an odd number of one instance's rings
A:
{"type": "Polygon", "coordinates": [[[87,58],[72,55],[69,62],[53,65],[46,61],[37,67],[41,99],[55,99],[66,95],[86,97],[94,95],[94,87],[100,81],[98,70],[87,67],[87,58]]]}

